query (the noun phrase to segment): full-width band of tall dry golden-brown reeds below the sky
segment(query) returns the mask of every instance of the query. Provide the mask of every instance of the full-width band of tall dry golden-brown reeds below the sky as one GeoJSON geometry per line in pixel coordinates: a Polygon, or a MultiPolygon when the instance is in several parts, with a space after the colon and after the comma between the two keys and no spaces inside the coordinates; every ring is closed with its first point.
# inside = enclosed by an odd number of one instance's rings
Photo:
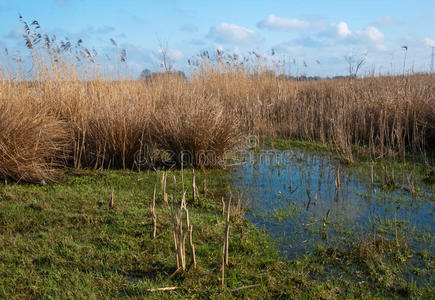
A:
{"type": "Polygon", "coordinates": [[[139,168],[156,149],[217,166],[242,134],[320,141],[350,161],[360,150],[379,158],[435,148],[434,75],[298,82],[218,53],[187,81],[131,80],[121,63],[112,80],[97,54],[34,39],[30,75],[22,62],[0,69],[1,178],[53,180],[64,162],[139,168]]]}

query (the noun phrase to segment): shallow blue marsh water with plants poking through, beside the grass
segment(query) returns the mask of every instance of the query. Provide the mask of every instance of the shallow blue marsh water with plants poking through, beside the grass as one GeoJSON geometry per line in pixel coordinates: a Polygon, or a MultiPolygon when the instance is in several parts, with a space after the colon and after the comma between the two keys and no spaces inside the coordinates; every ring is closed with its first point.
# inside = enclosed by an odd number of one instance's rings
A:
{"type": "Polygon", "coordinates": [[[248,207],[246,217],[270,233],[288,258],[319,244],[397,232],[434,254],[434,195],[413,170],[400,177],[296,150],[246,152],[241,159],[232,179],[248,207]]]}

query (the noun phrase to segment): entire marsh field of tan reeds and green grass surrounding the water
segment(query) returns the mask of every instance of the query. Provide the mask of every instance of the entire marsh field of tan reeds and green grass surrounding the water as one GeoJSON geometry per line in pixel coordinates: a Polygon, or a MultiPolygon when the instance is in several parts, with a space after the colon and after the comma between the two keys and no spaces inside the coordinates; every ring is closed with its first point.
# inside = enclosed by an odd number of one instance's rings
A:
{"type": "MultiPolygon", "coordinates": [[[[433,209],[434,74],[297,81],[218,52],[199,56],[187,80],[135,80],[122,51],[108,71],[87,49],[75,48],[85,53],[77,62],[54,41],[28,41],[30,74],[24,63],[0,67],[0,298],[433,295],[432,248],[415,250],[387,208],[382,230],[286,260],[267,230],[244,217],[251,208],[233,203],[223,286],[221,263],[222,199],[234,188],[228,160],[240,150],[327,152],[349,168],[371,167],[372,188],[406,190],[433,209]],[[171,203],[180,205],[184,188],[197,268],[175,272],[171,203]],[[177,289],[149,291],[163,287],[177,289]]],[[[420,233],[433,241],[431,231],[420,233]]]]}

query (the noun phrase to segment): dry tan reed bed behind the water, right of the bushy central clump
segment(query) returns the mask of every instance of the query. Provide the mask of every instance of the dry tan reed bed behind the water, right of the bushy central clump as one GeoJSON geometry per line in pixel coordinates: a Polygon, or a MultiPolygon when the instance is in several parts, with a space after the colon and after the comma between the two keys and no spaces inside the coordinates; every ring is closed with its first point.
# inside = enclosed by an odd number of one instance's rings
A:
{"type": "Polygon", "coordinates": [[[244,132],[331,144],[343,158],[427,153],[435,147],[435,76],[295,81],[273,72],[210,72],[198,80],[244,132]]]}

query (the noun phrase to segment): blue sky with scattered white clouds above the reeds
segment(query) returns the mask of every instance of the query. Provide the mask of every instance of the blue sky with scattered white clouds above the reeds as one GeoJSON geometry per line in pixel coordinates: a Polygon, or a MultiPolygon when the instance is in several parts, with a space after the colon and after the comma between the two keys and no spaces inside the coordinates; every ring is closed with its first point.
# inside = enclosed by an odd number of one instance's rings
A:
{"type": "Polygon", "coordinates": [[[162,48],[183,71],[218,49],[255,51],[291,75],[346,75],[346,57],[365,59],[360,74],[399,74],[404,63],[406,72],[428,72],[435,47],[435,1],[426,0],[0,0],[0,63],[5,48],[25,51],[19,14],[100,54],[112,54],[115,40],[134,74],[161,70],[162,48]]]}

